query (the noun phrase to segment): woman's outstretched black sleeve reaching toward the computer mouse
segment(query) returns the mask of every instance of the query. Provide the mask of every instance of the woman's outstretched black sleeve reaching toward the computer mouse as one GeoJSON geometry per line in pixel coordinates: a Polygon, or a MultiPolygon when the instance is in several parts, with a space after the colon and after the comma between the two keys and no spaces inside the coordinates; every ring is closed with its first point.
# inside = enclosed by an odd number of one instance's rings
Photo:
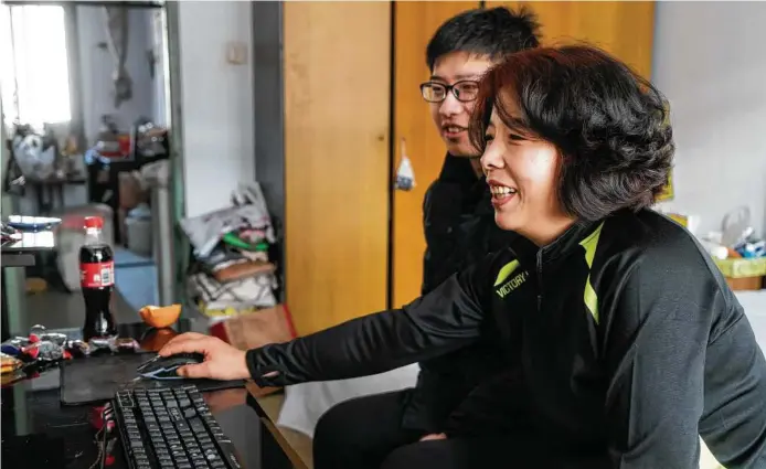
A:
{"type": "Polygon", "coordinates": [[[483,265],[453,275],[402,309],[352,319],[281,344],[247,351],[259,386],[341,380],[382,373],[474,342],[485,313],[483,265]]]}

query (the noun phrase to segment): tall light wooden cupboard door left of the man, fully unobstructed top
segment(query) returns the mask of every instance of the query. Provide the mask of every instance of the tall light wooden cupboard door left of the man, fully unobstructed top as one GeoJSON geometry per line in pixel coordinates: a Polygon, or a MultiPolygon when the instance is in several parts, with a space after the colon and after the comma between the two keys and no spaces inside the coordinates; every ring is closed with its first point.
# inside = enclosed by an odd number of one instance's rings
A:
{"type": "Polygon", "coordinates": [[[386,308],[391,3],[285,2],[286,302],[308,334],[386,308]]]}

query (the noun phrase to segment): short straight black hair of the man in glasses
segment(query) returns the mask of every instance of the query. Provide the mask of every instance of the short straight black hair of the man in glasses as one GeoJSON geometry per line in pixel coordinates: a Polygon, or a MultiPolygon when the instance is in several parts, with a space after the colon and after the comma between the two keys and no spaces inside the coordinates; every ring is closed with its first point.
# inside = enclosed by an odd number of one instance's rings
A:
{"type": "Polygon", "coordinates": [[[526,8],[504,7],[465,11],[445,21],[426,47],[426,64],[451,52],[486,55],[490,60],[540,45],[540,24],[526,8]]]}

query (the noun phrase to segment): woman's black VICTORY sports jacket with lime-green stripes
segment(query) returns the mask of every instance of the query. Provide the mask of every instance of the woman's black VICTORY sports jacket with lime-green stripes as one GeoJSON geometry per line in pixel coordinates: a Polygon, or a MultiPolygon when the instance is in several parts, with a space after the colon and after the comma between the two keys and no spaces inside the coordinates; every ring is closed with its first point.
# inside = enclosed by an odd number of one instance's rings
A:
{"type": "Polygon", "coordinates": [[[763,352],[710,256],[652,211],[576,223],[541,249],[519,237],[401,309],[249,350],[247,363],[281,386],[480,339],[512,372],[470,393],[450,437],[511,435],[519,467],[698,469],[702,436],[725,467],[766,467],[763,352]]]}

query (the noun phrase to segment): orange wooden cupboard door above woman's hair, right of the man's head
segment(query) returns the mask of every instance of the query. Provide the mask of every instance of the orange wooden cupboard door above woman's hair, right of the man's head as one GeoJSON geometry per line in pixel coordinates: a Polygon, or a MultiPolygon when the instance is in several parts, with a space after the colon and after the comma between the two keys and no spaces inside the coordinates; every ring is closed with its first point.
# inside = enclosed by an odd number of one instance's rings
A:
{"type": "Polygon", "coordinates": [[[520,6],[538,14],[543,44],[587,41],[651,77],[653,1],[488,1],[487,7],[520,6]]]}

